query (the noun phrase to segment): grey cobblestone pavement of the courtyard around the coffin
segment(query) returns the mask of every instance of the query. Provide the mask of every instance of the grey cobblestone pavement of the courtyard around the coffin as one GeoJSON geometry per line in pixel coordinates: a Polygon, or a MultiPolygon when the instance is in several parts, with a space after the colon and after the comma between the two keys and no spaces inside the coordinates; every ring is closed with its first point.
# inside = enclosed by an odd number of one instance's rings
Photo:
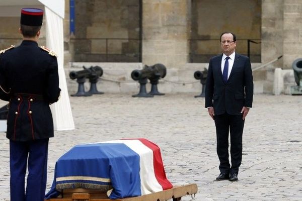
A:
{"type": "MultiPolygon", "coordinates": [[[[70,97],[76,129],[55,132],[50,140],[47,190],[56,160],[72,146],[146,138],[161,147],[172,183],[197,183],[195,198],[182,200],[302,200],[302,96],[254,96],[239,181],[230,182],[214,181],[219,173],[214,122],[204,99],[194,95],[70,97]]],[[[0,200],[9,200],[9,141],[0,134],[0,200]]]]}

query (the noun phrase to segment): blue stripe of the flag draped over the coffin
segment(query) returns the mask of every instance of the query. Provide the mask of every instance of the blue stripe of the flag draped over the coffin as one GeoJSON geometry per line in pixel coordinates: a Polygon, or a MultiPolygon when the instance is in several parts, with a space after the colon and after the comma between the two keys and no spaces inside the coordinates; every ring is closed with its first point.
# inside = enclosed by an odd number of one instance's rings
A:
{"type": "MultiPolygon", "coordinates": [[[[125,144],[85,144],[74,146],[59,158],[54,179],[68,176],[109,178],[113,187],[109,198],[116,199],[141,195],[139,171],[139,155],[125,144]]],[[[84,180],[95,184],[95,181],[84,180]]],[[[70,180],[56,181],[53,185],[62,182],[70,183],[70,180]]],[[[47,194],[55,194],[53,190],[55,186],[47,194]]]]}

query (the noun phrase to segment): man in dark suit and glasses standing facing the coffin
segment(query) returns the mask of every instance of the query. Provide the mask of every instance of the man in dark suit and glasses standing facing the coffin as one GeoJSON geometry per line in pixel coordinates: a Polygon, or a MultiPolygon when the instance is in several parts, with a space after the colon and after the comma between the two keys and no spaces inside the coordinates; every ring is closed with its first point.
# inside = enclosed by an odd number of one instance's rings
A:
{"type": "Polygon", "coordinates": [[[223,54],[209,62],[205,86],[205,108],[215,122],[220,174],[216,180],[238,181],[242,160],[244,122],[253,102],[253,75],[250,59],[235,53],[236,36],[220,36],[223,54]],[[229,132],[231,163],[229,162],[229,132]]]}

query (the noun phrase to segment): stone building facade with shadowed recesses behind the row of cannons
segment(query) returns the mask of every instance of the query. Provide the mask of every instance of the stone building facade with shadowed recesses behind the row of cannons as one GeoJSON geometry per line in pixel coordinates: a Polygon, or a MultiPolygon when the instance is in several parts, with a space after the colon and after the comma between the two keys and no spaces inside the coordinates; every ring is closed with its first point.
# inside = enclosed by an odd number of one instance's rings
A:
{"type": "MultiPolygon", "coordinates": [[[[249,53],[254,68],[282,56],[253,72],[258,93],[272,93],[275,68],[289,70],[293,60],[302,57],[300,0],[73,2],[71,9],[75,15],[70,19],[70,1],[65,0],[66,74],[83,65],[100,65],[104,68],[104,78],[116,81],[104,79],[98,84],[103,91],[138,90],[137,83],[126,82],[131,80],[131,71],[155,63],[167,67],[167,76],[159,86],[163,92],[200,91],[201,84],[193,73],[203,70],[208,58],[221,52],[219,36],[223,31],[237,34],[237,52],[249,53]],[[75,25],[71,35],[70,20],[75,25]],[[249,52],[248,39],[256,42],[250,43],[249,52]]],[[[16,19],[0,18],[0,23],[13,25],[16,19]]],[[[12,36],[10,29],[2,27],[0,37],[12,36]]],[[[1,48],[6,43],[0,42],[1,48]]],[[[67,81],[68,88],[76,90],[75,81],[67,81]]],[[[291,78],[288,81],[294,83],[291,78]]]]}

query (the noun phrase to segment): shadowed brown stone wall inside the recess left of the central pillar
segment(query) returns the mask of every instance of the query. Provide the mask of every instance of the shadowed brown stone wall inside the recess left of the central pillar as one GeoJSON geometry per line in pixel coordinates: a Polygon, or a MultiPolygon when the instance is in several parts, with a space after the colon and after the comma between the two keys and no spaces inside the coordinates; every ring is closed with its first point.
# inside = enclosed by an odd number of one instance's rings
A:
{"type": "Polygon", "coordinates": [[[138,0],[76,0],[73,61],[138,57],[138,15],[138,0]]]}

